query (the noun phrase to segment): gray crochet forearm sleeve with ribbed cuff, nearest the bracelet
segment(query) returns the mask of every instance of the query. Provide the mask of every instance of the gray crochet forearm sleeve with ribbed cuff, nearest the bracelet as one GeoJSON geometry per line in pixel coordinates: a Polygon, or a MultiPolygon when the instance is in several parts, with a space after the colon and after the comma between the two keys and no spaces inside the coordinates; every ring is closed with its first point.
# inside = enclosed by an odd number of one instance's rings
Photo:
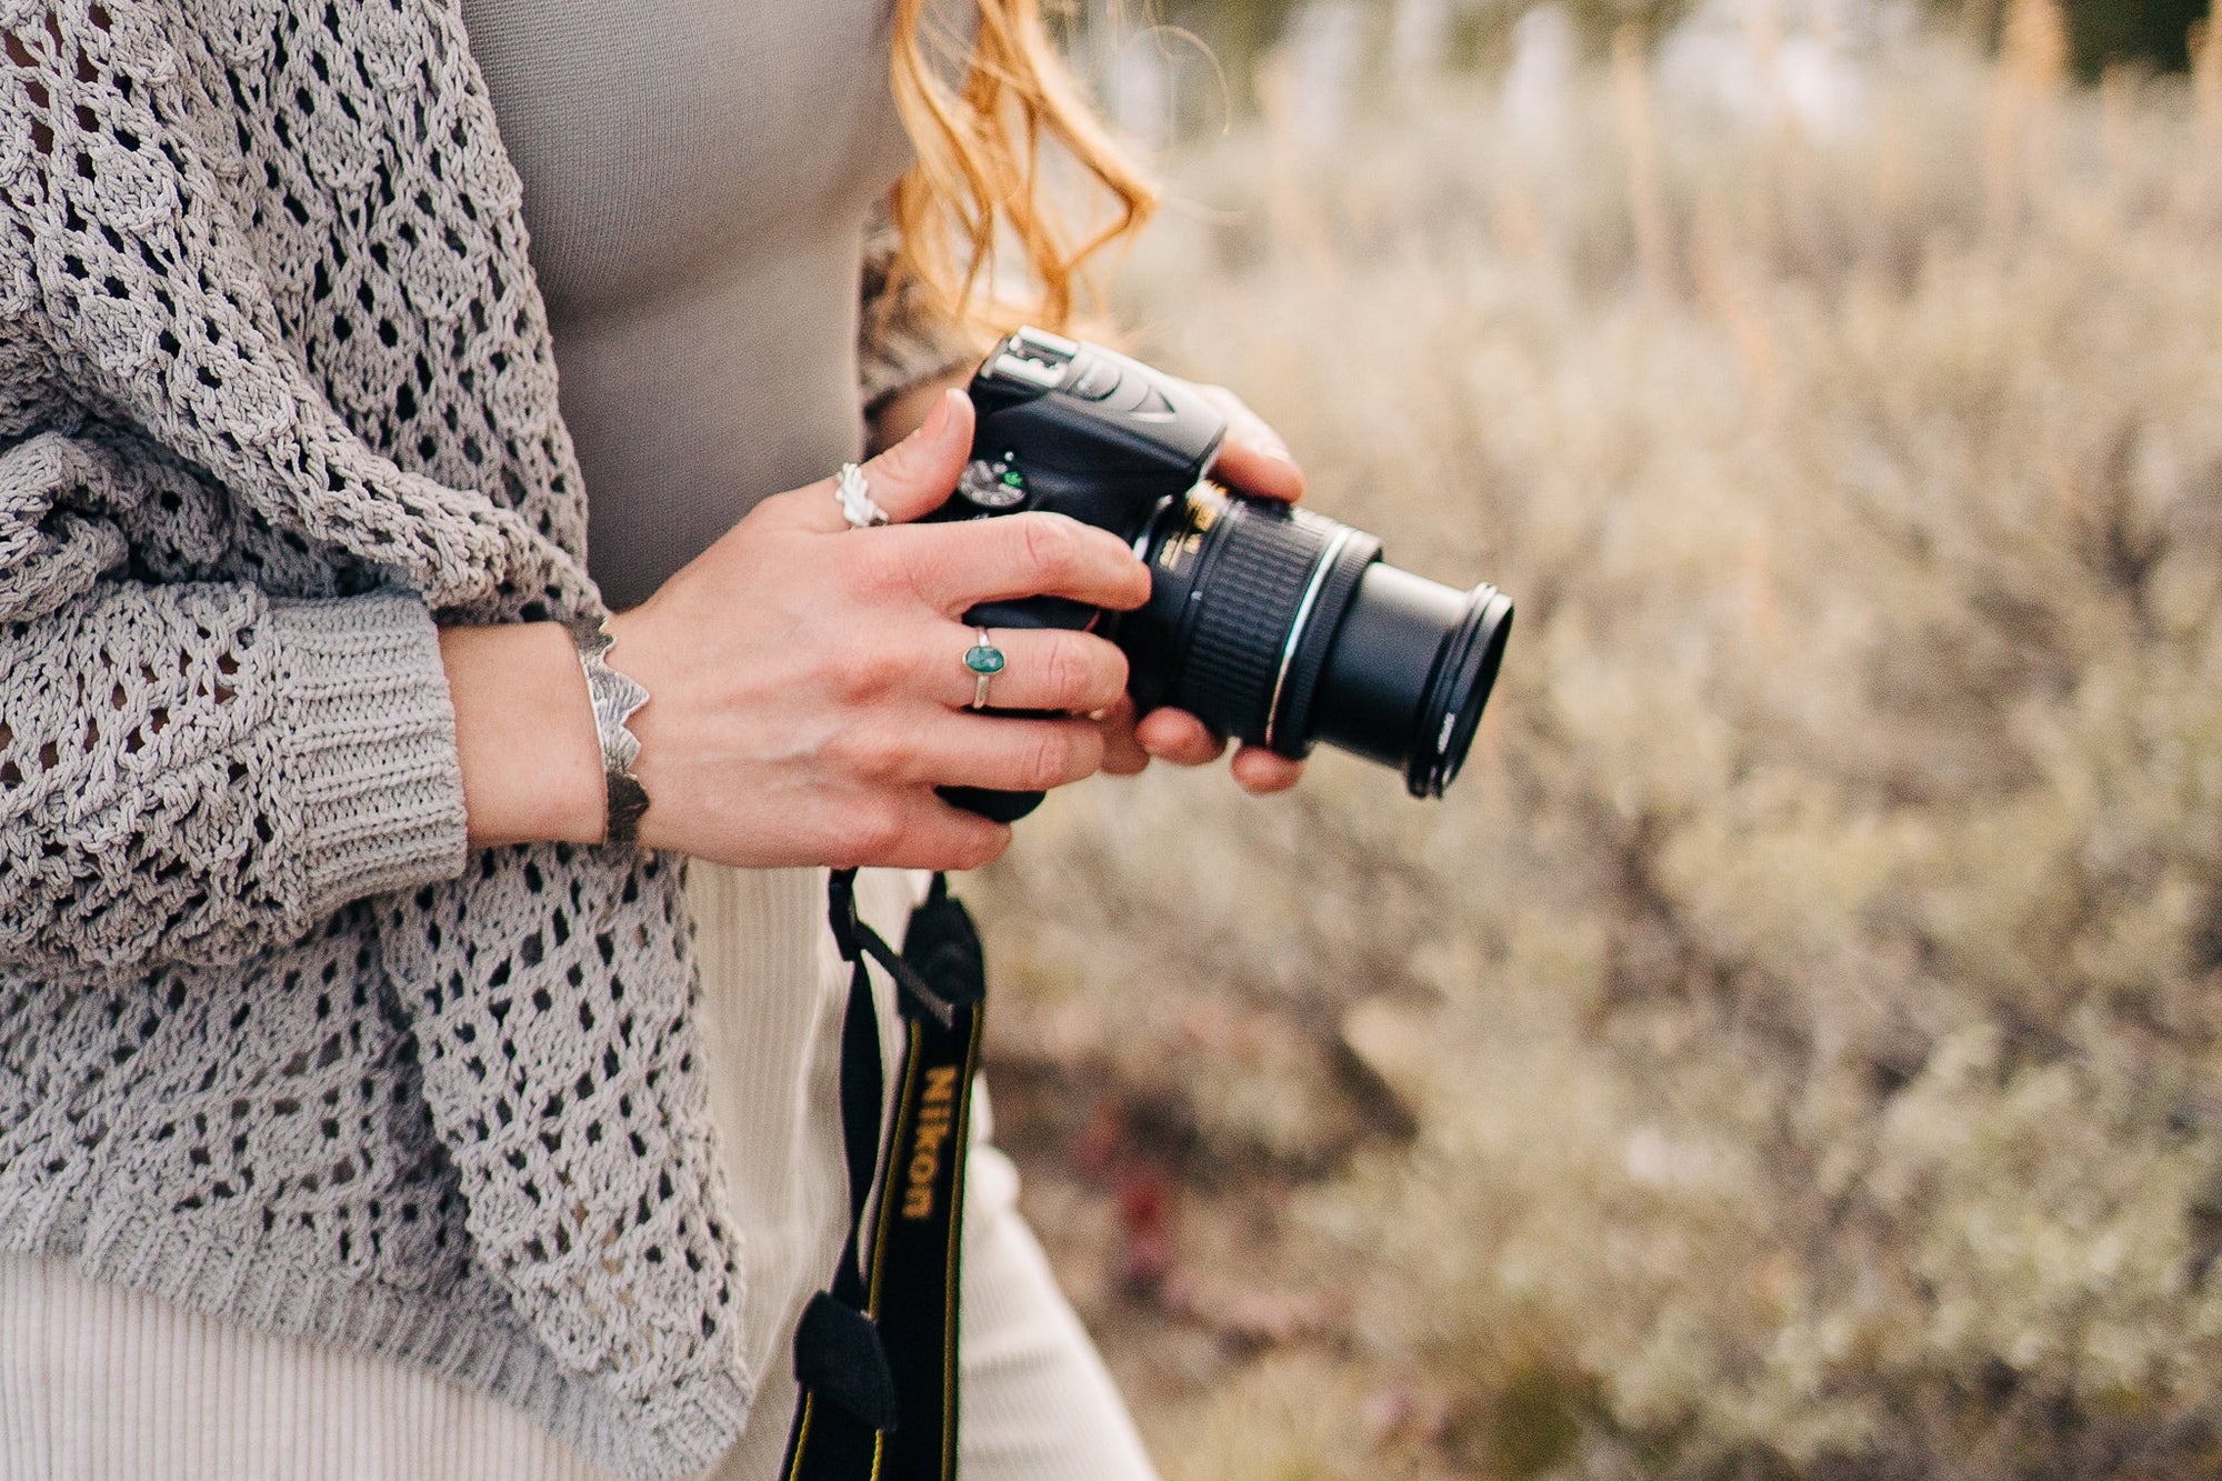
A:
{"type": "Polygon", "coordinates": [[[462,869],[424,603],[133,578],[184,476],[0,436],[0,970],[229,961],[462,869]]]}

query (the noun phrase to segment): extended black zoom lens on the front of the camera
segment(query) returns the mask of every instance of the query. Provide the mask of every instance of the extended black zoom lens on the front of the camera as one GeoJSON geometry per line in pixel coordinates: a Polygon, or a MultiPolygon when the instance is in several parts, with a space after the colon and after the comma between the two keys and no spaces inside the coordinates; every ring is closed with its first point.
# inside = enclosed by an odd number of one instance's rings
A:
{"type": "Polygon", "coordinates": [[[1142,536],[1151,600],[1120,645],[1135,698],[1304,756],[1315,740],[1404,772],[1413,796],[1458,776],[1504,658],[1513,605],[1380,558],[1380,540],[1284,505],[1200,487],[1142,536]]]}

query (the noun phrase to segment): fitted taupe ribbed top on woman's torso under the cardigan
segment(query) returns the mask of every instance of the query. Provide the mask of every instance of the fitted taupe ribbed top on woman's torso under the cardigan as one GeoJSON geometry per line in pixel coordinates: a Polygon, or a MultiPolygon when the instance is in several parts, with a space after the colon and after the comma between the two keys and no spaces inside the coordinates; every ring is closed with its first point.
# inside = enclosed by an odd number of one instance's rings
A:
{"type": "Polygon", "coordinates": [[[889,0],[464,0],[524,180],[589,569],[644,600],[858,454],[864,222],[911,160],[889,0]]]}

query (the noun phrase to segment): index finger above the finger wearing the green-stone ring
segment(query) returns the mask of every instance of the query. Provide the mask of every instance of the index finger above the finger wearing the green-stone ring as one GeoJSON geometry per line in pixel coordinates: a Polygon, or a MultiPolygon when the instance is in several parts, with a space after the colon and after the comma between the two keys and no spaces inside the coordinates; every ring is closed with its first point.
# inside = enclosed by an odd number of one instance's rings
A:
{"type": "Polygon", "coordinates": [[[918,596],[958,616],[980,603],[1069,596],[1124,612],[1149,600],[1149,567],[1109,529],[1062,514],[913,525],[884,540],[918,596]]]}

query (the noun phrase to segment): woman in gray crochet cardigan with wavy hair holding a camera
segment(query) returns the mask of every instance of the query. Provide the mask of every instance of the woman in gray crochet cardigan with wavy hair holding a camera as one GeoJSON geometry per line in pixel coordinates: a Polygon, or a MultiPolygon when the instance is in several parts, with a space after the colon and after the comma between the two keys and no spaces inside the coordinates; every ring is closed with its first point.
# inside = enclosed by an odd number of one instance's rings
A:
{"type": "MultiPolygon", "coordinates": [[[[1218,752],[1082,634],[995,634],[1075,718],[967,712],[964,607],[1147,592],[904,527],[967,251],[1067,302],[1035,129],[1142,193],[1031,0],[960,89],[884,7],[0,0],[0,1474],[773,1474],[847,1214],[824,865],[1218,752]],[[822,478],[860,385],[891,529],[822,478]],[[638,847],[567,627],[613,607],[638,847]]],[[[967,1268],[967,1474],[1147,1474],[993,1161],[967,1268]]]]}

